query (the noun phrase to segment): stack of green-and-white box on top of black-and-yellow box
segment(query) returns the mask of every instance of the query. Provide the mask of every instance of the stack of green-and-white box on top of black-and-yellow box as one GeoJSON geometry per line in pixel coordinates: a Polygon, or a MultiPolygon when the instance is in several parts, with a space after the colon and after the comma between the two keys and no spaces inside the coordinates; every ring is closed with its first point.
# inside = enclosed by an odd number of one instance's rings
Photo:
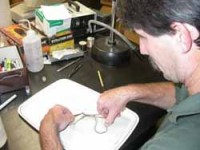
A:
{"type": "Polygon", "coordinates": [[[35,11],[35,24],[47,36],[43,51],[51,54],[56,50],[74,48],[74,38],[70,30],[71,18],[63,20],[47,20],[42,9],[35,11]]]}

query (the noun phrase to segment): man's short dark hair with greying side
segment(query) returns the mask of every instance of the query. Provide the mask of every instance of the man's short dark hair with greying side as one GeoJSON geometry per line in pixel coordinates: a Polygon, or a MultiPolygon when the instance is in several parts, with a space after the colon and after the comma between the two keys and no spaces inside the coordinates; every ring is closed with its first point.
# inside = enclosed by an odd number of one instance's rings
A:
{"type": "Polygon", "coordinates": [[[153,36],[173,33],[175,21],[200,31],[200,0],[118,0],[117,6],[121,21],[153,36]]]}

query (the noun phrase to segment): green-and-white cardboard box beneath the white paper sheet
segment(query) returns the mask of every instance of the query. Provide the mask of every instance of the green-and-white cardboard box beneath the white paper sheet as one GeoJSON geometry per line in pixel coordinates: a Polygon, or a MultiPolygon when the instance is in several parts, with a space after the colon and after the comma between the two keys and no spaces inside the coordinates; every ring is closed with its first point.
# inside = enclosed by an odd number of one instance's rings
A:
{"type": "Polygon", "coordinates": [[[35,10],[36,26],[43,30],[43,32],[51,37],[59,32],[70,30],[71,18],[65,20],[47,20],[41,9],[35,10]]]}

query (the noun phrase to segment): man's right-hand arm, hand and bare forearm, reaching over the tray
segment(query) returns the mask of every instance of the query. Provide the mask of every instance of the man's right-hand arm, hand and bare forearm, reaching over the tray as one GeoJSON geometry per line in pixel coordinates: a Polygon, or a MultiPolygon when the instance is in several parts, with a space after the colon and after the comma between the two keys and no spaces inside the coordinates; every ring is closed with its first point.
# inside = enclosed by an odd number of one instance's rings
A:
{"type": "Polygon", "coordinates": [[[175,88],[171,82],[130,84],[102,93],[97,103],[98,112],[112,124],[129,101],[154,105],[163,109],[172,107],[175,102],[175,88]]]}

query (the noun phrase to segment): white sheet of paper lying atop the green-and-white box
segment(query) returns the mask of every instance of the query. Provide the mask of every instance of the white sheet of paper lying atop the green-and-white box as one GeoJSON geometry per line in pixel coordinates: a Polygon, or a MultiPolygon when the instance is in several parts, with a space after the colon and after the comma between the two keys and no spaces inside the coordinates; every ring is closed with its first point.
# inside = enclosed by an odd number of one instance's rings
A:
{"type": "Polygon", "coordinates": [[[71,15],[65,5],[41,6],[41,10],[47,20],[65,20],[71,18],[71,15]]]}

